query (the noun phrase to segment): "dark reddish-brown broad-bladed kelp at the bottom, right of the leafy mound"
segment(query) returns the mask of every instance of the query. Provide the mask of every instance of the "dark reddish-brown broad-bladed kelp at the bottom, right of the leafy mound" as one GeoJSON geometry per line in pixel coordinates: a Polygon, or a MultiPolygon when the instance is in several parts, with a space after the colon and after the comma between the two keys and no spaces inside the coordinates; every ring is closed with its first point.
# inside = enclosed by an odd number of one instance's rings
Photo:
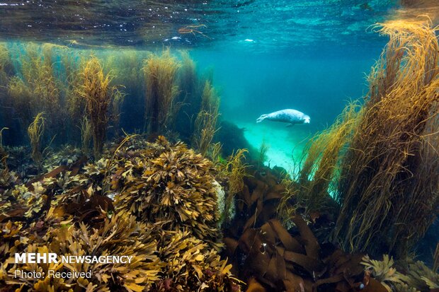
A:
{"type": "Polygon", "coordinates": [[[285,192],[282,178],[267,168],[264,176],[250,173],[236,194],[236,214],[246,215],[235,216],[223,240],[234,273],[248,283],[247,291],[348,292],[358,291],[362,284],[365,291],[385,291],[373,279],[366,281],[363,255],[349,255],[327,244],[323,249],[301,214],[292,214],[294,233],[285,229],[272,207],[285,192]]]}

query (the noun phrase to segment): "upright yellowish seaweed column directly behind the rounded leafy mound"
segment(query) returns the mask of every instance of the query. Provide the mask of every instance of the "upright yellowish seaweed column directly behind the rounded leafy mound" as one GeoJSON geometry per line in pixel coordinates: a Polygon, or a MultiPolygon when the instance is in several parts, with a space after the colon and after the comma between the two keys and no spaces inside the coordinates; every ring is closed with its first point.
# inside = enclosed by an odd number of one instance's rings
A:
{"type": "Polygon", "coordinates": [[[164,132],[173,125],[173,119],[181,104],[176,103],[177,69],[176,58],[166,49],[159,56],[149,54],[144,60],[143,71],[146,78],[145,129],[149,133],[164,132]]]}

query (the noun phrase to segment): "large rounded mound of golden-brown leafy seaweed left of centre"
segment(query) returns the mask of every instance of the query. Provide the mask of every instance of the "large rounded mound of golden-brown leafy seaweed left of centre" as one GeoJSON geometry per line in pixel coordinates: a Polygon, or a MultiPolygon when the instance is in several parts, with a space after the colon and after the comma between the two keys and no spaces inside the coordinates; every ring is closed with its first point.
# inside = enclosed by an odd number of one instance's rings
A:
{"type": "MultiPolygon", "coordinates": [[[[122,153],[123,148],[118,156],[122,153]]],[[[168,230],[188,228],[196,238],[217,245],[220,214],[212,163],[182,143],[169,144],[162,136],[147,149],[131,151],[130,156],[127,163],[118,165],[110,182],[113,188],[123,185],[115,197],[118,209],[140,221],[169,222],[164,226],[168,230]]]]}

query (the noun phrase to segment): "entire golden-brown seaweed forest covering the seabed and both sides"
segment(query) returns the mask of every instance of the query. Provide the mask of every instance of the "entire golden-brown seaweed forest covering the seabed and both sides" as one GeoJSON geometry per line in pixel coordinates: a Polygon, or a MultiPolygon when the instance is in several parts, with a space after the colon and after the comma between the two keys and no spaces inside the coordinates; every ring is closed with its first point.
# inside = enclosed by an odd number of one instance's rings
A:
{"type": "Polygon", "coordinates": [[[437,236],[416,255],[439,214],[439,30],[372,30],[367,94],[293,172],[222,118],[188,51],[0,43],[0,291],[439,291],[437,236]]]}

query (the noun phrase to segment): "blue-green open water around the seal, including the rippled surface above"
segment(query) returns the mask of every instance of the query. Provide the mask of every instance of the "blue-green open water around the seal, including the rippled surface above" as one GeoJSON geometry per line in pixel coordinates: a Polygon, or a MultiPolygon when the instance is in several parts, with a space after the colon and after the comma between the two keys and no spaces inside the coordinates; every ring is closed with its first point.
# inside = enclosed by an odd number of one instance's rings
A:
{"type": "MultiPolygon", "coordinates": [[[[103,54],[106,49],[117,54],[112,49],[118,46],[118,52],[190,49],[200,71],[211,71],[222,117],[244,128],[251,146],[267,144],[267,164],[292,170],[304,142],[331,124],[348,100],[367,91],[365,76],[386,42],[371,25],[401,6],[396,1],[30,1],[5,2],[2,8],[8,41],[55,42],[103,54]],[[254,123],[285,108],[306,113],[312,122],[291,129],[254,123]]],[[[122,119],[126,129],[130,117],[122,119]]]]}

